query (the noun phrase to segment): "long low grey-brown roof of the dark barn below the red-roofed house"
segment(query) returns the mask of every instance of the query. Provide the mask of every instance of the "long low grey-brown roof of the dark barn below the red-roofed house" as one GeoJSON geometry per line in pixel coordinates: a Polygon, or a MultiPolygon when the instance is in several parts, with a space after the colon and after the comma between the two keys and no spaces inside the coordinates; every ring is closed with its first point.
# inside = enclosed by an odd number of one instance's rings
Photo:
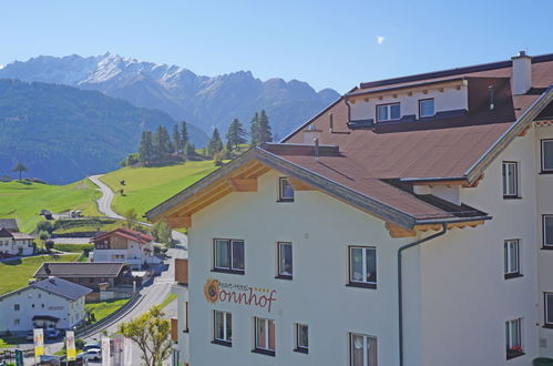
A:
{"type": "Polygon", "coordinates": [[[116,277],[123,271],[124,263],[100,262],[48,262],[40,266],[34,277],[116,277]],[[48,272],[47,268],[50,271],[48,272]]]}

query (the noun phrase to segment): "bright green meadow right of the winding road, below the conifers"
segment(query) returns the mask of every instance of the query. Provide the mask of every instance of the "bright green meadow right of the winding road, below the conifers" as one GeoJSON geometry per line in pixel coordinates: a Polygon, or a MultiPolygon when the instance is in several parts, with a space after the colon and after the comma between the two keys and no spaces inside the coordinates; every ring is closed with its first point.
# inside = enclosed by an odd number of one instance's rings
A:
{"type": "Polygon", "coordinates": [[[134,209],[141,217],[146,211],[197,182],[216,169],[213,161],[186,162],[162,167],[124,167],[102,176],[117,192],[112,207],[119,214],[134,209]],[[125,185],[120,181],[124,180],[125,185]],[[119,191],[123,189],[125,195],[119,191]]]}

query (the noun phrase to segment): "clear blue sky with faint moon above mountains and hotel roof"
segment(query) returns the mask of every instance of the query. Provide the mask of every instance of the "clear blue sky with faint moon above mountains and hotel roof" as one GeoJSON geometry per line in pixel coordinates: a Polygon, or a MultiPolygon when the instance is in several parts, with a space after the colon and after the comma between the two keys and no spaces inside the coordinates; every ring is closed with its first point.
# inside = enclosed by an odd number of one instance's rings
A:
{"type": "Polygon", "coordinates": [[[361,81],[553,52],[552,0],[4,1],[0,64],[106,51],[344,93],[361,81]]]}

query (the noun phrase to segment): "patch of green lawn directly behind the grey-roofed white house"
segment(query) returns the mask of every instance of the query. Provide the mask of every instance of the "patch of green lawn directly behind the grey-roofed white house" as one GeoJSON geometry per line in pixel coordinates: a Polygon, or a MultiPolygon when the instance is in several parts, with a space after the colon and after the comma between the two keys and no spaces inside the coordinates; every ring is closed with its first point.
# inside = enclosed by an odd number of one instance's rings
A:
{"type": "Polygon", "coordinates": [[[24,287],[44,262],[73,262],[81,254],[39,255],[0,263],[0,295],[24,287]]]}

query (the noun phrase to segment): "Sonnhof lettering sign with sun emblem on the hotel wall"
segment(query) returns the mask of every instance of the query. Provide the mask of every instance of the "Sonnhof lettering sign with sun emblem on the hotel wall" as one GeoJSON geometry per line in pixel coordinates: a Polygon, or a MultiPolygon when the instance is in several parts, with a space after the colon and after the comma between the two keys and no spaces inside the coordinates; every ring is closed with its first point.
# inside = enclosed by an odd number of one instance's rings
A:
{"type": "Polygon", "coordinates": [[[204,285],[205,298],[212,304],[222,302],[255,306],[267,309],[267,313],[276,301],[275,294],[275,289],[224,283],[215,278],[208,278],[204,285]]]}

